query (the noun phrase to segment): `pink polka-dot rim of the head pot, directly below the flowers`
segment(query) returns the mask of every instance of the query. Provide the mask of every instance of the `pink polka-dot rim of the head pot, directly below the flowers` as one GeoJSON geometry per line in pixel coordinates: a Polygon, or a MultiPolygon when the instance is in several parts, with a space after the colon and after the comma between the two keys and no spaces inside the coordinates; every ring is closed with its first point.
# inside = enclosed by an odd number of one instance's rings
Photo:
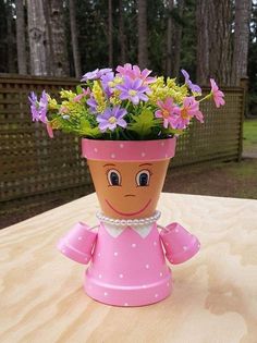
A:
{"type": "Polygon", "coordinates": [[[89,160],[158,161],[172,158],[175,144],[175,137],[152,140],[82,138],[82,156],[89,160]]]}

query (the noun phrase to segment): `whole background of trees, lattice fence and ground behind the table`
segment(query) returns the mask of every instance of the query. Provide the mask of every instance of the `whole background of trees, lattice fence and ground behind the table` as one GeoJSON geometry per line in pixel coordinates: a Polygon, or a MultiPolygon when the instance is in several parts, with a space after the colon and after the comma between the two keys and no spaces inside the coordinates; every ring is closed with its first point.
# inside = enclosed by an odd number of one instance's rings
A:
{"type": "Polygon", "coordinates": [[[0,0],[0,228],[94,192],[78,139],[32,124],[29,91],[127,62],[225,93],[180,138],[164,192],[257,199],[257,1],[0,0]]]}

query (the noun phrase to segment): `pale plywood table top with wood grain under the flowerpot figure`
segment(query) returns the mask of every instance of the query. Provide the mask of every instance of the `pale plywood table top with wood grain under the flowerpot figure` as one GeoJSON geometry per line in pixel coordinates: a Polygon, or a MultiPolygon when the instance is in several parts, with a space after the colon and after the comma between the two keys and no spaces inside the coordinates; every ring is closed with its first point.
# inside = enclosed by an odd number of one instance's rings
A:
{"type": "Polygon", "coordinates": [[[137,308],[89,298],[85,267],[56,249],[97,209],[91,194],[0,231],[1,343],[257,342],[257,200],[162,194],[159,223],[179,221],[201,250],[172,267],[169,298],[137,308]]]}

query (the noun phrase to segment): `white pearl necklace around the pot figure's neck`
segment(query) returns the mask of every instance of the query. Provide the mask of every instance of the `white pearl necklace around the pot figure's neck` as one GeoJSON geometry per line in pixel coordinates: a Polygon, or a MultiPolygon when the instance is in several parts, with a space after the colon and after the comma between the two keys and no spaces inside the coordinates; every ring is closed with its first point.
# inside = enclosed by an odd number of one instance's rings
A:
{"type": "Polygon", "coordinates": [[[117,225],[117,226],[138,226],[138,225],[148,225],[156,222],[161,216],[160,211],[155,211],[155,215],[142,219],[113,219],[109,218],[101,212],[97,212],[96,217],[103,223],[117,225]]]}

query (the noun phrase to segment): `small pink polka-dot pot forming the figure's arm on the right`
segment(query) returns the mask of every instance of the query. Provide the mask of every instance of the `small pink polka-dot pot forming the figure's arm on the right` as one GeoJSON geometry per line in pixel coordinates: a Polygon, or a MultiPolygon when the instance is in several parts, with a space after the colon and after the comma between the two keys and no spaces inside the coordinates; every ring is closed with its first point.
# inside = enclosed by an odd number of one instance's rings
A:
{"type": "Polygon", "coordinates": [[[200,248],[197,237],[179,223],[171,223],[163,228],[160,232],[160,237],[166,250],[166,257],[173,265],[191,259],[200,248]]]}

